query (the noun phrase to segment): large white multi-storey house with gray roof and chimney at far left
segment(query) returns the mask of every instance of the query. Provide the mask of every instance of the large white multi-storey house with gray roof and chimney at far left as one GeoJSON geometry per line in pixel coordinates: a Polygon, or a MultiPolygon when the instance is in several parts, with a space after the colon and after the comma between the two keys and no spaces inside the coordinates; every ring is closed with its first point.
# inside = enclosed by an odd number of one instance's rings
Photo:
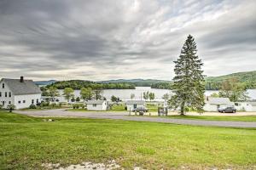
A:
{"type": "Polygon", "coordinates": [[[40,102],[41,90],[32,80],[3,78],[0,81],[0,105],[6,108],[15,105],[16,109],[28,108],[40,102]]]}

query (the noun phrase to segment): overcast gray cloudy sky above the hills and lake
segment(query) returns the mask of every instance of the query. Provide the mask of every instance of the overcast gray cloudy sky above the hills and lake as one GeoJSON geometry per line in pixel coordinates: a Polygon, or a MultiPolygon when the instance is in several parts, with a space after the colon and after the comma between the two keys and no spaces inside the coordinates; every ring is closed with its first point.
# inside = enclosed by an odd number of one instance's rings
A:
{"type": "Polygon", "coordinates": [[[207,76],[256,70],[255,0],[1,0],[0,77],[171,80],[186,37],[207,76]]]}

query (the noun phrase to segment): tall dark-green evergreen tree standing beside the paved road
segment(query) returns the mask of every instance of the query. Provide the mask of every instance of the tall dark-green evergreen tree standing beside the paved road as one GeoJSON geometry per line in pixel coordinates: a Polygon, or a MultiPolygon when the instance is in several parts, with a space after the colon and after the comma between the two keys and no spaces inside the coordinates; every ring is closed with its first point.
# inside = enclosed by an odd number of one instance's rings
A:
{"type": "Polygon", "coordinates": [[[186,107],[196,111],[202,111],[204,105],[204,76],[201,59],[196,55],[197,49],[194,38],[189,35],[183,44],[181,54],[174,61],[174,72],[171,105],[180,107],[181,115],[184,115],[186,107]]]}

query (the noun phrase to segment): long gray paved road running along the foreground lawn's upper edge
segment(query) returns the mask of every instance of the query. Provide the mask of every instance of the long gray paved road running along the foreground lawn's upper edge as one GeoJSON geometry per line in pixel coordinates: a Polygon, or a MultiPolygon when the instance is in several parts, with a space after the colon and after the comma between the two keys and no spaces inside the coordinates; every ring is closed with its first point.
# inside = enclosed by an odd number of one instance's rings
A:
{"type": "Polygon", "coordinates": [[[204,121],[189,119],[172,119],[163,117],[129,116],[128,112],[84,112],[84,111],[15,111],[28,116],[76,116],[96,119],[115,119],[137,122],[163,122],[183,125],[217,126],[217,127],[256,127],[256,122],[226,122],[226,121],[204,121]]]}

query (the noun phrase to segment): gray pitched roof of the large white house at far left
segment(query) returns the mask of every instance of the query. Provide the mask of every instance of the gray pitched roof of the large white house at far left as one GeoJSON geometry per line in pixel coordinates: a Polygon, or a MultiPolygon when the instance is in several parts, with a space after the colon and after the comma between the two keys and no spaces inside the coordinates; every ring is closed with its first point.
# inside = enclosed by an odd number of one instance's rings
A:
{"type": "Polygon", "coordinates": [[[7,84],[14,95],[42,93],[40,88],[38,88],[38,86],[32,80],[24,80],[24,82],[20,82],[20,79],[3,78],[0,82],[3,81],[7,84]]]}

